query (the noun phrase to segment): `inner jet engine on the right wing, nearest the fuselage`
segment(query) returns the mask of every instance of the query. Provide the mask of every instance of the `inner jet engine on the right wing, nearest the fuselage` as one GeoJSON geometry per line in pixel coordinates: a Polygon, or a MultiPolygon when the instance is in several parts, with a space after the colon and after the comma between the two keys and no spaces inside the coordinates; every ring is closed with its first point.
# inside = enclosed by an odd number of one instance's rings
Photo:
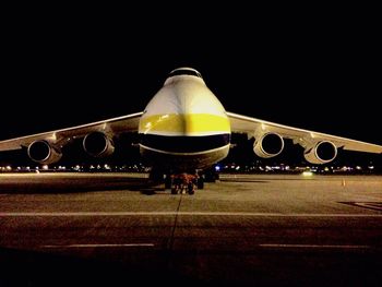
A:
{"type": "Polygon", "coordinates": [[[253,144],[253,152],[263,158],[278,155],[284,150],[284,140],[277,133],[264,133],[258,136],[253,144]]]}

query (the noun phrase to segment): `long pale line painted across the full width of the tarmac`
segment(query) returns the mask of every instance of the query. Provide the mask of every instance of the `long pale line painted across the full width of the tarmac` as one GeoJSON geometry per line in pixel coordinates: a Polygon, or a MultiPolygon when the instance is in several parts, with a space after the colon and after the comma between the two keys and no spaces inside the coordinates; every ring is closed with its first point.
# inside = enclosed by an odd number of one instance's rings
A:
{"type": "Polygon", "coordinates": [[[73,217],[73,216],[251,216],[251,217],[382,217],[382,214],[338,213],[249,213],[249,212],[2,212],[0,217],[73,217]]]}

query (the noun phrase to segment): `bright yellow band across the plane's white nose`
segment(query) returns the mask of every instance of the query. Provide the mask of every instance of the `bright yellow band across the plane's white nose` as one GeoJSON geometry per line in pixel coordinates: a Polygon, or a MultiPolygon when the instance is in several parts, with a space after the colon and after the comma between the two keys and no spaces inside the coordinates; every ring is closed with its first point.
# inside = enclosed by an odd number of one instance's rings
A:
{"type": "Polygon", "coordinates": [[[164,135],[207,135],[230,133],[227,117],[212,113],[167,113],[142,117],[140,133],[164,135]]]}

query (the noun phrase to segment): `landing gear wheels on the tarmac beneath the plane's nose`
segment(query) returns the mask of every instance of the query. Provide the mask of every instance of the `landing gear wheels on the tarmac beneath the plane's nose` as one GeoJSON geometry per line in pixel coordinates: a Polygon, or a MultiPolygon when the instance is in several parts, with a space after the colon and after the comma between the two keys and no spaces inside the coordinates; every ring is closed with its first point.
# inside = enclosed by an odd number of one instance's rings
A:
{"type": "Polygon", "coordinates": [[[195,193],[195,189],[203,189],[204,181],[202,177],[192,174],[177,174],[167,176],[165,179],[165,188],[171,190],[171,194],[190,195],[195,193]]]}

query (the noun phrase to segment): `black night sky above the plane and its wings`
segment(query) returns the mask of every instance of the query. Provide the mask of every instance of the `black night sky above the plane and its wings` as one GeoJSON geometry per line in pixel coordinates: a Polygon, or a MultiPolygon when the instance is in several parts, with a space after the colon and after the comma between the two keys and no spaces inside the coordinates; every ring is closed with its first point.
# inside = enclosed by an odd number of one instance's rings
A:
{"type": "Polygon", "coordinates": [[[229,111],[382,144],[377,23],[338,13],[13,19],[0,139],[141,111],[168,72],[188,65],[229,111]]]}

